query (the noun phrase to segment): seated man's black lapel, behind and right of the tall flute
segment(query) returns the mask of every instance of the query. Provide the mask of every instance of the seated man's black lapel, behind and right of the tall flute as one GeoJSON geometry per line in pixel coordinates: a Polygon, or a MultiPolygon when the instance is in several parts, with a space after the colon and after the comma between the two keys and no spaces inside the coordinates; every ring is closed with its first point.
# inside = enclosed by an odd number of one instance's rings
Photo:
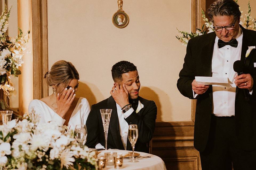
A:
{"type": "Polygon", "coordinates": [[[110,96],[109,99],[107,100],[107,106],[108,106],[108,108],[112,109],[110,122],[109,122],[109,129],[110,129],[114,144],[117,149],[123,148],[123,143],[120,138],[120,131],[119,131],[117,105],[112,96],[110,96]]]}

